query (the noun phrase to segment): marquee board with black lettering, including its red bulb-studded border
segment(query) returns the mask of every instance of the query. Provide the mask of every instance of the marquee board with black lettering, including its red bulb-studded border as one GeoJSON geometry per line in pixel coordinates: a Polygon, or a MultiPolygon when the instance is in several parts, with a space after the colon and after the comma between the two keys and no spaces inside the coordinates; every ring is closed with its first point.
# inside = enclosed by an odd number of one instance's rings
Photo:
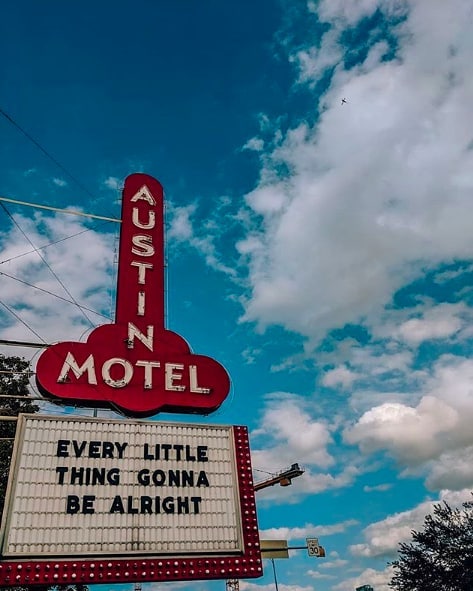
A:
{"type": "Polygon", "coordinates": [[[0,586],[261,576],[247,430],[20,415],[2,540],[0,586]]]}

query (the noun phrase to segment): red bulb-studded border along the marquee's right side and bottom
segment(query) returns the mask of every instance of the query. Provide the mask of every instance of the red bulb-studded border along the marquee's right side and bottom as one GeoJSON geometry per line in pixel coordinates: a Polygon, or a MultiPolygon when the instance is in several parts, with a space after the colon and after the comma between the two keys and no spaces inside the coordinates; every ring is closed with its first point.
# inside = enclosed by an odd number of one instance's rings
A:
{"type": "Polygon", "coordinates": [[[2,560],[0,586],[256,578],[263,574],[248,429],[233,426],[243,530],[241,555],[75,560],[2,560]]]}

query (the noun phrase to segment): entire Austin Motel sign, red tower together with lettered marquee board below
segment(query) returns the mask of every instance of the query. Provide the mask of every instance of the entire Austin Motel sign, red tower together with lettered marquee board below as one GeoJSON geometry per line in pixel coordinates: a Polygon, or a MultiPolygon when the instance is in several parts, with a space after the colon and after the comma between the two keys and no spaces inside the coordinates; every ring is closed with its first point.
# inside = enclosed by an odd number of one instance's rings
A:
{"type": "Polygon", "coordinates": [[[165,328],[163,189],[125,180],[115,322],[40,356],[41,393],[130,419],[20,415],[0,586],[262,575],[248,430],[143,421],[210,414],[226,370],[165,328]]]}

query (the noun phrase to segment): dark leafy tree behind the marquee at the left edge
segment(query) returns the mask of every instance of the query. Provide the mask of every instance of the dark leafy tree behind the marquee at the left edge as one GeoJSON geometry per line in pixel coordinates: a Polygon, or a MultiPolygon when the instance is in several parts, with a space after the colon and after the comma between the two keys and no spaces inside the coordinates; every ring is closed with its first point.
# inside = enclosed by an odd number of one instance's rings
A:
{"type": "MultiPolygon", "coordinates": [[[[0,354],[0,395],[20,398],[0,398],[0,415],[16,417],[19,413],[36,413],[39,410],[29,396],[31,366],[21,357],[6,357],[0,354]]],[[[3,513],[8,473],[13,451],[16,422],[0,420],[0,516],[3,513]]],[[[87,591],[87,585],[55,585],[35,587],[0,587],[0,591],[87,591]]]]}

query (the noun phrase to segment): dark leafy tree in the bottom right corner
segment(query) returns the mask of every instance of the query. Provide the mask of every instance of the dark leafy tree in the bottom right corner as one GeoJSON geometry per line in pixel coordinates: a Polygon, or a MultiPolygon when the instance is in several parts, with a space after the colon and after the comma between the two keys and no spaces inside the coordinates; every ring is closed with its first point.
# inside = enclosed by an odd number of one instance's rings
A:
{"type": "Polygon", "coordinates": [[[435,505],[423,530],[400,544],[392,566],[390,587],[397,591],[472,591],[473,502],[435,505]]]}

